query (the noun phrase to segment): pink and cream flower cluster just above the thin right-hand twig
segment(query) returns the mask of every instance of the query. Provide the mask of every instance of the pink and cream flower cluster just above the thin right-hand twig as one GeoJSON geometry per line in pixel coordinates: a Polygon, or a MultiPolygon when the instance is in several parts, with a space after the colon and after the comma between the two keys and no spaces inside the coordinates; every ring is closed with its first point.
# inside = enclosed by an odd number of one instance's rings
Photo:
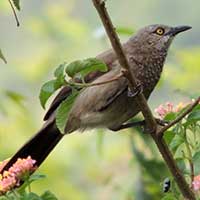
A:
{"type": "Polygon", "coordinates": [[[161,119],[164,119],[165,116],[171,112],[179,112],[181,109],[186,107],[188,104],[184,104],[180,102],[176,107],[173,103],[167,102],[166,104],[161,104],[158,106],[158,108],[155,109],[155,112],[159,115],[161,119]]]}

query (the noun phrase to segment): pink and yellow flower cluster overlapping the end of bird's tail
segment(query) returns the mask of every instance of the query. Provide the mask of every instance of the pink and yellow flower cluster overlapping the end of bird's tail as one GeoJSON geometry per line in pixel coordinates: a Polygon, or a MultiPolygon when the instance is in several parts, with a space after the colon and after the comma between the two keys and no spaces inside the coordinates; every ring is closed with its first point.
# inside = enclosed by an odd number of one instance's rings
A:
{"type": "MultiPolygon", "coordinates": [[[[0,170],[3,169],[7,162],[8,160],[5,160],[0,163],[0,170]]],[[[0,174],[0,195],[5,194],[15,186],[19,186],[21,180],[24,180],[36,170],[35,163],[36,160],[33,160],[30,156],[24,159],[18,158],[8,171],[0,174]]]]}

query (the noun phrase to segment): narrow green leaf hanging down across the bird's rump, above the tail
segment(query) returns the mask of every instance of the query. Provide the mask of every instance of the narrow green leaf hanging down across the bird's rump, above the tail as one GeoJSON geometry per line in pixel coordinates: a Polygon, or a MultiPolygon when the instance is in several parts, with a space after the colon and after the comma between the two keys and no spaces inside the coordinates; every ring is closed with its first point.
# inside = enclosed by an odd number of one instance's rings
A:
{"type": "Polygon", "coordinates": [[[78,96],[78,91],[73,91],[72,94],[64,100],[57,109],[56,112],[56,125],[61,133],[65,133],[65,126],[68,120],[68,114],[74,103],[74,100],[78,96]]]}

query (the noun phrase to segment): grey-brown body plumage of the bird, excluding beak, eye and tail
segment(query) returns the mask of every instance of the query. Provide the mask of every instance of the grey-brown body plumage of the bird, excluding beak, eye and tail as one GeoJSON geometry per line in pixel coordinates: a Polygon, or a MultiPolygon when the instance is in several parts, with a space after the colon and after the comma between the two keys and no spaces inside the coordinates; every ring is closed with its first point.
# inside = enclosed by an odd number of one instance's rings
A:
{"type": "MultiPolygon", "coordinates": [[[[142,85],[147,99],[160,79],[167,51],[174,37],[164,34],[171,29],[164,25],[147,26],[123,45],[131,70],[142,85]],[[163,34],[158,34],[157,30],[163,31],[163,34]]],[[[114,53],[108,54],[100,56],[99,59],[108,64],[106,59],[112,57],[109,62],[112,70],[93,82],[103,82],[120,73],[121,66],[113,56],[114,53]]],[[[70,112],[66,133],[93,127],[118,129],[140,111],[135,98],[128,97],[127,92],[128,82],[124,77],[105,85],[84,89],[70,112]]]]}

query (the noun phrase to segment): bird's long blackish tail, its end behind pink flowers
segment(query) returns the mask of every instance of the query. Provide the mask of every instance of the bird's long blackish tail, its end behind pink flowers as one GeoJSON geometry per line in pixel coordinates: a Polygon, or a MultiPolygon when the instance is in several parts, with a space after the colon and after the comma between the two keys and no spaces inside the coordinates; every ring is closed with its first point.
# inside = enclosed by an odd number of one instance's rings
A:
{"type": "Polygon", "coordinates": [[[8,170],[18,158],[27,158],[28,156],[36,160],[36,166],[39,167],[62,137],[63,134],[60,133],[54,122],[45,125],[19,149],[2,171],[8,170]]]}

